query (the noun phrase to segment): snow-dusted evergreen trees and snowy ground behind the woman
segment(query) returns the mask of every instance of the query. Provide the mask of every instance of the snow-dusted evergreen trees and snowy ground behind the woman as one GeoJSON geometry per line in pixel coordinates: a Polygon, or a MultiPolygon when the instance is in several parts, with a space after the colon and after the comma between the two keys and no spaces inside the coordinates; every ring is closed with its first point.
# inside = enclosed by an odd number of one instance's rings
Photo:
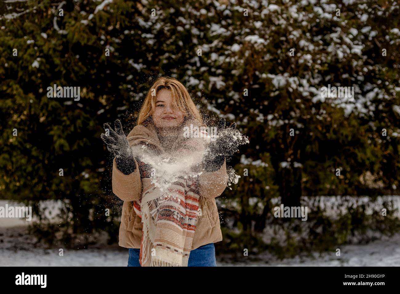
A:
{"type": "Polygon", "coordinates": [[[399,19],[383,0],[2,0],[0,206],[34,220],[0,218],[0,265],[126,266],[100,134],[127,134],[158,76],[250,139],[216,199],[218,265],[399,265],[399,19]]]}

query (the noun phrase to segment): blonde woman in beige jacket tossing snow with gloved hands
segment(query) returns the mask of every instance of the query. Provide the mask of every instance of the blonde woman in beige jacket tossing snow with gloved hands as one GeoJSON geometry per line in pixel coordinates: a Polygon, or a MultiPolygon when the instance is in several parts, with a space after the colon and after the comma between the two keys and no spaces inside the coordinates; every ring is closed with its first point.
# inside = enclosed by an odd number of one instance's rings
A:
{"type": "Polygon", "coordinates": [[[124,201],[119,245],[129,248],[128,266],[216,266],[215,198],[227,185],[225,155],[236,150],[228,130],[236,124],[220,120],[217,140],[185,138],[190,125],[206,126],[186,88],[168,77],[150,88],[127,137],[119,120],[115,130],[104,124],[110,134],[101,138],[115,156],[112,190],[124,201]]]}

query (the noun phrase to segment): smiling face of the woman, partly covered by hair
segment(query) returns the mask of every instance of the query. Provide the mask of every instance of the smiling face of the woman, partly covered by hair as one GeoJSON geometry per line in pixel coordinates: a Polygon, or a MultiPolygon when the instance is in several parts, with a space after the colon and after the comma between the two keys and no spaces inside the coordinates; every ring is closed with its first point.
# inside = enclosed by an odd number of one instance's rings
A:
{"type": "Polygon", "coordinates": [[[168,89],[158,91],[152,116],[154,125],[160,129],[179,127],[184,119],[183,112],[172,105],[171,91],[168,89]]]}

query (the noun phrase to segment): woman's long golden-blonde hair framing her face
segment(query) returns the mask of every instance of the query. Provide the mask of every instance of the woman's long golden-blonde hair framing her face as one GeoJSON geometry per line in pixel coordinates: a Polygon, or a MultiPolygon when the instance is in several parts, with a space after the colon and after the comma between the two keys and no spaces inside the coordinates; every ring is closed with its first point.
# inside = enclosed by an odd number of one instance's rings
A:
{"type": "Polygon", "coordinates": [[[200,112],[194,105],[192,98],[190,98],[188,90],[181,82],[168,76],[160,77],[154,82],[153,86],[149,89],[146,98],[144,99],[142,108],[140,108],[138,125],[146,125],[152,120],[153,110],[156,105],[156,96],[158,91],[167,89],[171,91],[172,105],[178,107],[184,114],[184,119],[195,119],[202,123],[203,120],[200,112]]]}

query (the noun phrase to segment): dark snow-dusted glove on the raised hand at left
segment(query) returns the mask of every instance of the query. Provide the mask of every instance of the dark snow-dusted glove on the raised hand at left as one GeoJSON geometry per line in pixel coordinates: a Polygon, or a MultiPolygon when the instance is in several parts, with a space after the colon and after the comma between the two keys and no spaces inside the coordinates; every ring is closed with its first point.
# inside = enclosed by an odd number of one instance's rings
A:
{"type": "Polygon", "coordinates": [[[115,121],[114,127],[115,131],[109,124],[104,124],[104,129],[110,130],[110,136],[101,134],[100,137],[104,143],[107,144],[108,151],[114,154],[118,170],[123,174],[128,175],[136,169],[134,154],[132,148],[129,146],[128,138],[126,138],[124,131],[122,130],[120,120],[115,121]]]}

